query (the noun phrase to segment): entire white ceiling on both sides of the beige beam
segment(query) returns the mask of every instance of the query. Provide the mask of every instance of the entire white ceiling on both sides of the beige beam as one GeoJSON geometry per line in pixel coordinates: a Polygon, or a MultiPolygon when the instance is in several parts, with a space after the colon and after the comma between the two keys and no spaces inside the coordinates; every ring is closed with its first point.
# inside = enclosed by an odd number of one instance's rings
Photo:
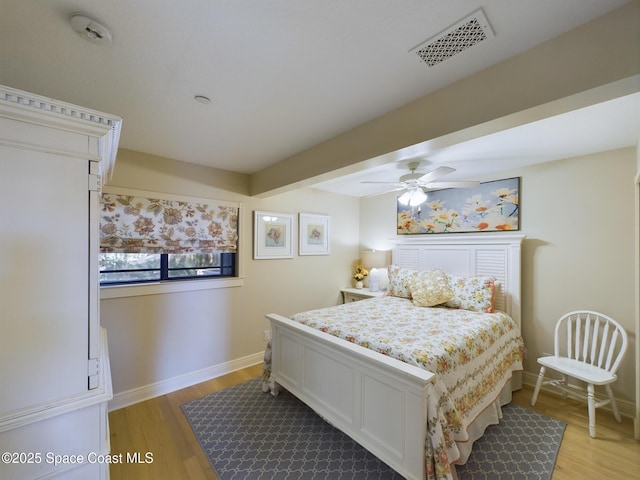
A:
{"type": "MultiPolygon", "coordinates": [[[[0,0],[0,84],[122,116],[123,148],[254,173],[626,3],[0,0]],[[434,68],[409,52],[480,7],[494,38],[434,68]],[[111,44],[76,35],[78,12],[104,23],[111,44]]],[[[635,145],[639,102],[431,150],[424,168],[446,163],[458,169],[446,180],[472,178],[480,160],[486,174],[635,145]],[[532,144],[541,133],[548,140],[532,144]]],[[[402,173],[391,164],[319,187],[367,195],[354,185],[402,173]]]]}

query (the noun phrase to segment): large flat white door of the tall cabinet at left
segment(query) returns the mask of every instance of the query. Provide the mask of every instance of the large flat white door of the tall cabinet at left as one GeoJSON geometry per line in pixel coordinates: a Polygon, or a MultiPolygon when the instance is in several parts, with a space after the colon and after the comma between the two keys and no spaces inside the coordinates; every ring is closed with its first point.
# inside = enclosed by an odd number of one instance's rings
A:
{"type": "Polygon", "coordinates": [[[88,168],[0,146],[0,417],[87,391],[88,168]]]}

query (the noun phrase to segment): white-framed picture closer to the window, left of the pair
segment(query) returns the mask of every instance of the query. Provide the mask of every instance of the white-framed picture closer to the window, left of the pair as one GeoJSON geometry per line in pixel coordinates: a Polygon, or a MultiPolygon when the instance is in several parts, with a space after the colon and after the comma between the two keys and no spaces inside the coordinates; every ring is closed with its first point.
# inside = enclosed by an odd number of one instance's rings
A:
{"type": "Polygon", "coordinates": [[[293,258],[294,222],[292,213],[254,211],[254,260],[293,258]]]}

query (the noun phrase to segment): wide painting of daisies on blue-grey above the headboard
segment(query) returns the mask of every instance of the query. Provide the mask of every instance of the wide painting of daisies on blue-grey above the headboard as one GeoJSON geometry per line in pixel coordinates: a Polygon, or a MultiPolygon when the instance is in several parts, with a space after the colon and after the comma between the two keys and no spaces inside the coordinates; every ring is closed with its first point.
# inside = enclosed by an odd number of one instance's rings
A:
{"type": "Polygon", "coordinates": [[[427,192],[422,204],[398,202],[397,211],[398,235],[520,230],[520,177],[427,192]]]}

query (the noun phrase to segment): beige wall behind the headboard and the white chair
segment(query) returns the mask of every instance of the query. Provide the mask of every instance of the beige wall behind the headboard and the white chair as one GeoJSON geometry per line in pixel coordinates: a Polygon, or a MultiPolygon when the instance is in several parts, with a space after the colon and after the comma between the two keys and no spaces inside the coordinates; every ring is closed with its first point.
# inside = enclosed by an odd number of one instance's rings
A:
{"type": "MultiPolygon", "coordinates": [[[[553,351],[553,326],[561,314],[599,310],[632,334],[614,390],[635,398],[635,175],[636,149],[628,148],[494,178],[521,177],[526,372],[537,372],[535,359],[553,351]]],[[[363,245],[391,246],[395,208],[394,194],[361,201],[363,245]]]]}

